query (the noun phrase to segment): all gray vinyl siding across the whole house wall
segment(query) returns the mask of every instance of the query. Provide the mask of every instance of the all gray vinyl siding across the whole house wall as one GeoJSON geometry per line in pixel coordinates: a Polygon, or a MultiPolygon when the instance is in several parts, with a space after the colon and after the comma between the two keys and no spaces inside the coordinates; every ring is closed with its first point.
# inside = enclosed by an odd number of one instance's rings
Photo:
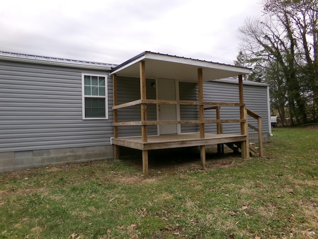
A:
{"type": "MultiPolygon", "coordinates": [[[[112,78],[108,76],[108,119],[82,119],[81,73],[108,75],[108,71],[0,61],[0,152],[110,145],[113,136],[112,78]]],[[[147,79],[147,99],[156,99],[156,88],[147,79]]],[[[140,80],[117,80],[118,104],[140,99],[140,80]]],[[[180,100],[198,100],[197,84],[179,82],[180,100]]],[[[239,102],[238,84],[204,83],[205,101],[239,102]]],[[[244,85],[246,107],[261,115],[268,132],[267,89],[244,85]]],[[[238,119],[239,111],[221,108],[222,119],[238,119]],[[234,116],[234,114],[236,116],[234,116]]],[[[157,120],[156,105],[147,106],[148,120],[157,120]]],[[[198,119],[197,106],[180,106],[180,118],[198,119]]],[[[215,111],[206,111],[215,119],[215,111]]],[[[140,106],[118,110],[119,121],[141,120],[140,106]]],[[[256,126],[256,122],[248,119],[256,126]]],[[[157,126],[148,126],[156,135],[157,126]]],[[[141,126],[120,126],[119,136],[141,135],[141,126]]],[[[181,132],[198,132],[198,125],[181,125],[181,132]]],[[[206,132],[216,132],[207,124],[206,132]]],[[[238,124],[224,124],[225,133],[239,133],[238,124]]],[[[253,133],[252,131],[250,133],[253,133]]]]}

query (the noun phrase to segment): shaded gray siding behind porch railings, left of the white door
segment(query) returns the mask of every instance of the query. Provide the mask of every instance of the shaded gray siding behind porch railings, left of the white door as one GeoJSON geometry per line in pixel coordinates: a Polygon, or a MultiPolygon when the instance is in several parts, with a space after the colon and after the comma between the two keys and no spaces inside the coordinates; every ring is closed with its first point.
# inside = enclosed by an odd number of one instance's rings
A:
{"type": "MultiPolygon", "coordinates": [[[[156,88],[151,84],[154,80],[146,80],[147,99],[156,99],[156,88]]],[[[140,79],[117,77],[117,103],[124,104],[140,99],[140,79]]],[[[117,110],[118,122],[125,121],[140,121],[141,120],[141,106],[132,106],[117,110]]],[[[147,119],[157,120],[156,105],[147,105],[147,119]]],[[[157,126],[147,126],[148,135],[157,135],[157,126]]],[[[118,135],[120,137],[127,136],[141,136],[141,126],[119,126],[118,135]]]]}

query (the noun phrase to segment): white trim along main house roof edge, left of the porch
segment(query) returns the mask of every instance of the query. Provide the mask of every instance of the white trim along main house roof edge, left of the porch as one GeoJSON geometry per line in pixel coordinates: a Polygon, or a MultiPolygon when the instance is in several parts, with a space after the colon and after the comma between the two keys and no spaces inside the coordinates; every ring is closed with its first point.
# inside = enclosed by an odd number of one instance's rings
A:
{"type": "Polygon", "coordinates": [[[54,62],[54,61],[46,61],[46,60],[38,60],[38,59],[18,58],[14,56],[0,56],[0,60],[28,62],[28,63],[36,63],[36,64],[42,64],[42,65],[68,66],[73,68],[108,70],[108,71],[111,69],[111,67],[109,66],[92,66],[92,65],[85,65],[85,64],[79,64],[79,63],[54,62]]]}

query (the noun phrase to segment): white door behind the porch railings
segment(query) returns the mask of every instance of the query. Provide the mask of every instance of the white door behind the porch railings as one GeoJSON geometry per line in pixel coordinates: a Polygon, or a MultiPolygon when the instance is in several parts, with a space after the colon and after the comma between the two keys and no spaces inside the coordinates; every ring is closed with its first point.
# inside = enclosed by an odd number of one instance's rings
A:
{"type": "MultiPolygon", "coordinates": [[[[175,80],[157,80],[157,100],[176,100],[175,80]]],[[[158,104],[158,120],[177,120],[176,105],[158,104]]],[[[176,124],[159,124],[159,134],[177,133],[176,124]]]]}

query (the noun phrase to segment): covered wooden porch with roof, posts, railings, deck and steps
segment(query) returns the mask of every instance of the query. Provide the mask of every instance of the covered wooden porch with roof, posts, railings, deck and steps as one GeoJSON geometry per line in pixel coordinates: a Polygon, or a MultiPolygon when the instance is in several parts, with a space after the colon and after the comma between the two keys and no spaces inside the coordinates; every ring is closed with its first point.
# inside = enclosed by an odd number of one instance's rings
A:
{"type": "MultiPolygon", "coordinates": [[[[257,117],[253,112],[245,108],[243,102],[243,83],[242,75],[249,73],[249,69],[224,65],[213,62],[193,60],[190,58],[175,57],[162,55],[159,53],[144,52],[129,61],[117,66],[111,71],[113,76],[113,114],[114,114],[114,137],[111,142],[114,145],[115,158],[119,158],[118,146],[124,146],[142,150],[143,173],[148,175],[148,150],[177,148],[177,147],[200,147],[201,163],[205,166],[205,145],[218,144],[221,150],[224,143],[239,144],[241,149],[241,157],[249,157],[248,143],[248,123],[247,114],[257,117]],[[146,67],[147,66],[147,67],[146,67]],[[195,82],[198,86],[198,101],[180,101],[177,97],[171,99],[171,96],[164,98],[163,95],[159,98],[157,89],[157,99],[146,99],[146,75],[147,79],[155,79],[156,82],[160,79],[175,79],[179,82],[195,82]],[[117,104],[117,76],[133,77],[140,79],[140,99],[124,104],[117,104]],[[239,76],[239,102],[205,102],[203,97],[203,82],[224,77],[239,76]],[[147,120],[147,106],[157,106],[157,120],[147,120]],[[119,121],[118,110],[140,106],[141,120],[138,121],[119,121]],[[198,107],[198,119],[196,120],[181,120],[178,117],[173,119],[162,119],[159,117],[160,109],[165,109],[164,106],[173,106],[170,108],[170,113],[180,109],[180,105],[198,107]],[[160,108],[161,106],[161,108],[160,108]],[[236,119],[222,119],[220,108],[237,107],[239,115],[236,119]],[[205,119],[204,112],[215,110],[215,119],[205,119]],[[224,134],[222,125],[225,123],[239,123],[239,134],[224,134]],[[169,128],[161,131],[160,126],[182,124],[197,124],[199,132],[184,133],[180,130],[174,131],[169,128]],[[216,124],[216,133],[205,132],[205,124],[216,124]],[[141,127],[141,135],[134,137],[119,137],[118,127],[129,127],[131,125],[139,125],[141,127]],[[157,125],[158,135],[148,135],[147,126],[157,125]],[[167,131],[168,130],[168,131],[167,131]],[[171,130],[171,131],[169,131],[171,130]]],[[[169,87],[166,87],[169,88],[169,87]]],[[[169,89],[166,89],[167,91],[169,89]]],[[[177,91],[177,90],[176,90],[177,91]]],[[[177,115],[177,114],[176,114],[177,115]]],[[[260,124],[259,124],[260,125],[260,124]]],[[[172,127],[173,128],[173,127],[172,127]]],[[[261,132],[261,128],[253,128],[261,132]]],[[[261,133],[260,133],[261,134],[261,133]]],[[[260,141],[261,146],[261,141],[260,141]]],[[[261,150],[260,150],[261,152],[261,150]]],[[[260,153],[261,155],[261,153],[260,153]]]]}

